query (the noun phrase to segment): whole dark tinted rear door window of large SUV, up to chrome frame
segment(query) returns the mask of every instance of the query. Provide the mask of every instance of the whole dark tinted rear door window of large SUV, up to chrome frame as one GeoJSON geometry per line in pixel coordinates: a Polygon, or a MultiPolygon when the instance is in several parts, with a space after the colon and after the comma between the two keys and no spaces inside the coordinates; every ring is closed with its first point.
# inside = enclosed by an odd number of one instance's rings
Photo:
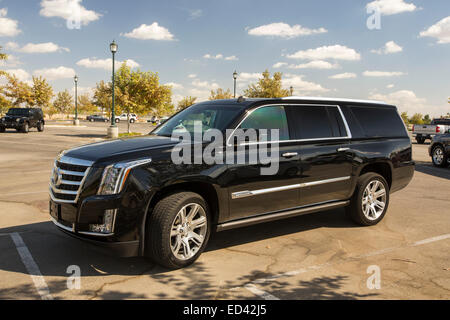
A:
{"type": "Polygon", "coordinates": [[[337,107],[290,107],[291,127],[296,139],[323,139],[346,137],[342,116],[337,107]]]}

